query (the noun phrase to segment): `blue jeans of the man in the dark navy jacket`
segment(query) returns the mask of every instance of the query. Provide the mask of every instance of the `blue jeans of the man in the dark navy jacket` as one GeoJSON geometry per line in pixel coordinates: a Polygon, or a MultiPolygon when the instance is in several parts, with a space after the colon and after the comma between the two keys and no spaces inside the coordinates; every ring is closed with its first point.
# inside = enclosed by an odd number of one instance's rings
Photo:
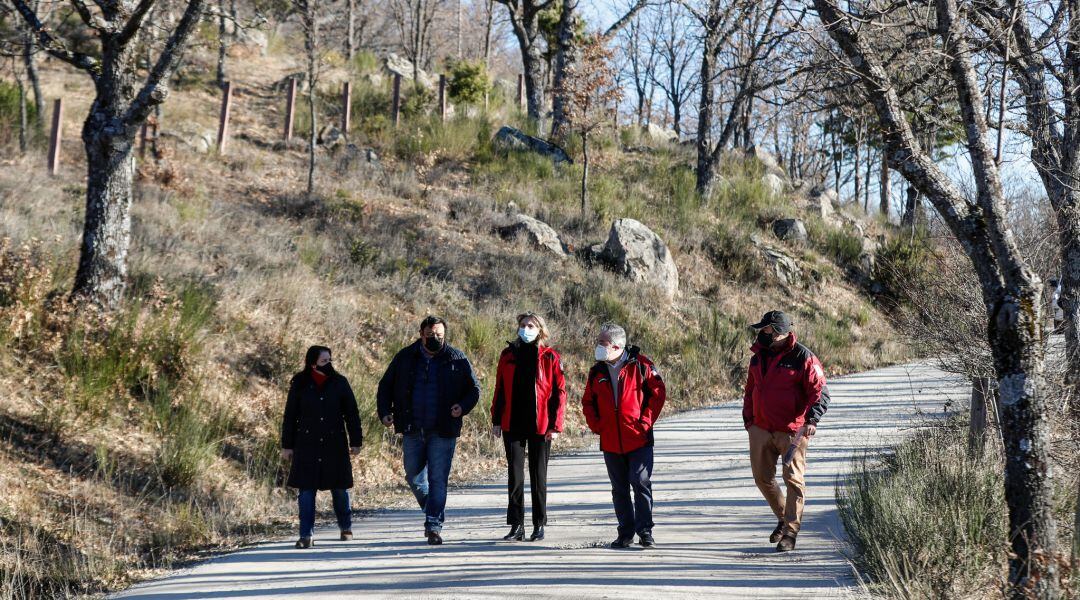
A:
{"type": "Polygon", "coordinates": [[[446,517],[446,486],[458,438],[438,437],[434,432],[405,434],[402,450],[405,479],[423,509],[424,531],[438,533],[446,517]]]}

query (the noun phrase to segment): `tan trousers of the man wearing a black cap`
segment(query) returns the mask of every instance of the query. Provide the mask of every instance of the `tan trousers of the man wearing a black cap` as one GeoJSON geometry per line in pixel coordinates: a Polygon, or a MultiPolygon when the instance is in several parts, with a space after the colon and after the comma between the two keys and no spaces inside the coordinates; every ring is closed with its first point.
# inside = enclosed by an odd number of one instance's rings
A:
{"type": "Polygon", "coordinates": [[[807,446],[810,439],[804,437],[795,450],[792,463],[783,467],[785,497],[777,485],[777,461],[787,452],[795,434],[767,432],[757,425],[750,426],[750,467],[754,472],[754,482],[772,508],[777,519],[784,521],[784,533],[797,535],[802,524],[802,504],[806,502],[806,483],[802,475],[807,466],[807,446]]]}

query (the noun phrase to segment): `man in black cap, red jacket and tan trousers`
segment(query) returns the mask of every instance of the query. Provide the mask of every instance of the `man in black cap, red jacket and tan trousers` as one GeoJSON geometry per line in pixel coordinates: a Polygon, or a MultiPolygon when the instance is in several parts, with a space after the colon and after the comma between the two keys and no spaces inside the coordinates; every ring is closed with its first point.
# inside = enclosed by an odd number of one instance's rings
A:
{"type": "Polygon", "coordinates": [[[743,425],[754,481],[780,520],[769,542],[783,553],[795,549],[802,524],[807,446],[828,410],[828,386],[821,362],[796,341],[787,315],[769,311],[752,327],[757,340],[743,392],[743,425]],[[781,456],[786,499],[777,485],[781,456]]]}

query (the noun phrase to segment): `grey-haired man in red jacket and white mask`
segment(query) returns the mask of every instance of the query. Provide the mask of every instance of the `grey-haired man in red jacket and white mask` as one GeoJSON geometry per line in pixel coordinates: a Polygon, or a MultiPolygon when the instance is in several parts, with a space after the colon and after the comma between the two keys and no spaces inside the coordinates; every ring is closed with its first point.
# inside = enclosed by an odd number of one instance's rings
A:
{"type": "Polygon", "coordinates": [[[619,520],[619,536],[611,547],[629,548],[637,533],[642,546],[650,548],[656,545],[652,425],[667,396],[664,380],[637,346],[626,345],[626,330],[613,323],[600,326],[595,356],[581,408],[589,428],[600,436],[611,480],[611,501],[619,520]]]}

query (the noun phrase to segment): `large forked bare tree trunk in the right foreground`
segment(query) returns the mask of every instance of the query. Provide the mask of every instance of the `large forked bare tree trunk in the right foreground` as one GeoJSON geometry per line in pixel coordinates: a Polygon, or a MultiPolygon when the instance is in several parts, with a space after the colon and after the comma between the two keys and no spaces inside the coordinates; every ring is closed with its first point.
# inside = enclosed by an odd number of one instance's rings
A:
{"type": "Polygon", "coordinates": [[[882,57],[862,35],[859,24],[867,19],[853,18],[835,0],[813,0],[813,5],[874,106],[888,164],[934,206],[977,274],[1001,405],[1012,595],[1057,598],[1056,523],[1043,394],[1042,283],[1017,248],[1008,221],[998,165],[987,140],[984,96],[973,68],[966,17],[956,0],[936,0],[934,14],[926,17],[934,21],[926,23],[924,30],[940,38],[941,68],[948,72],[957,94],[958,119],[974,176],[973,199],[934,164],[916,138],[895,82],[885,70],[882,57]]]}

